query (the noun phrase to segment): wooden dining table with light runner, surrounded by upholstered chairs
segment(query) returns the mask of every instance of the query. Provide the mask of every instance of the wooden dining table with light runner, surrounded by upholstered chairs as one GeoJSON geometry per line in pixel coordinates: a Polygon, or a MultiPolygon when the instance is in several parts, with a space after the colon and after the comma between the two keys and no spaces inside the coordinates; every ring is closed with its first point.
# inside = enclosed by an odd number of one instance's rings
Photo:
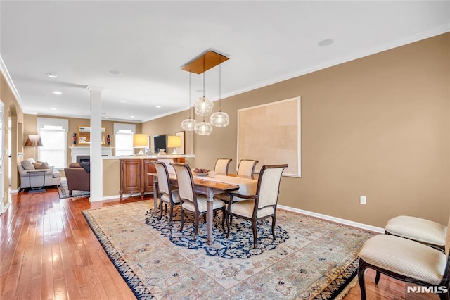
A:
{"type": "MultiPolygon", "coordinates": [[[[193,174],[193,182],[195,192],[197,194],[203,194],[207,196],[207,213],[206,213],[206,223],[207,223],[207,242],[212,244],[212,203],[214,199],[214,194],[223,194],[227,192],[236,192],[240,195],[254,195],[257,188],[257,180],[253,180],[250,177],[238,177],[237,175],[225,175],[216,174],[214,176],[210,175],[196,175],[193,174]]],[[[148,175],[153,176],[154,189],[153,189],[153,199],[155,199],[155,214],[158,213],[158,174],[148,173],[148,175]]],[[[176,174],[169,173],[169,180],[171,185],[177,186],[176,174]]]]}

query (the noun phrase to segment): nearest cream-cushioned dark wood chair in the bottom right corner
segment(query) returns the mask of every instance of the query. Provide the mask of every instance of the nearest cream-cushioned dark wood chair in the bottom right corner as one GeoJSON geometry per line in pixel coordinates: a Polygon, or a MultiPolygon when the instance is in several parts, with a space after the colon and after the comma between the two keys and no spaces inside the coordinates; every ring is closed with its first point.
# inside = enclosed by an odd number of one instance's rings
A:
{"type": "MultiPolygon", "coordinates": [[[[450,219],[447,227],[450,226],[450,219]]],[[[420,285],[449,299],[450,232],[445,235],[445,251],[395,235],[375,235],[364,242],[359,251],[358,280],[361,300],[366,299],[364,273],[376,271],[375,285],[383,273],[389,277],[420,285]]]]}

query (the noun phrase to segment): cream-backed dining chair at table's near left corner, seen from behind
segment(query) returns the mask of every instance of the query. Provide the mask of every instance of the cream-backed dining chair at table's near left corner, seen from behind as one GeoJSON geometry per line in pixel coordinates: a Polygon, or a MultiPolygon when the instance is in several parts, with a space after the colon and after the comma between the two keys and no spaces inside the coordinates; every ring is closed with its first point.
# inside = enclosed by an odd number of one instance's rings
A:
{"type": "MultiPolygon", "coordinates": [[[[186,163],[171,163],[175,169],[176,180],[178,181],[178,189],[181,200],[181,226],[180,231],[183,231],[184,213],[192,213],[194,215],[194,240],[198,234],[198,222],[200,215],[207,213],[207,196],[198,195],[195,193],[194,180],[192,177],[191,168],[186,163]]],[[[225,231],[224,222],[228,227],[228,218],[226,218],[226,209],[224,201],[220,199],[213,199],[213,212],[222,212],[222,230],[225,231]]]]}

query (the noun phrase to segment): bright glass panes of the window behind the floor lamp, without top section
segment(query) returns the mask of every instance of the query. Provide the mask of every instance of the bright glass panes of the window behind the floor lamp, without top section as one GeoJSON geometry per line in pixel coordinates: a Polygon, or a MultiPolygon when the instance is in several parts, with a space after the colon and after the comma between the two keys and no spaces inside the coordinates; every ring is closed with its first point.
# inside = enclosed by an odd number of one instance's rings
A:
{"type": "Polygon", "coordinates": [[[37,147],[39,161],[46,161],[54,168],[62,169],[67,165],[68,135],[58,126],[44,126],[39,131],[42,146],[37,147]]]}

